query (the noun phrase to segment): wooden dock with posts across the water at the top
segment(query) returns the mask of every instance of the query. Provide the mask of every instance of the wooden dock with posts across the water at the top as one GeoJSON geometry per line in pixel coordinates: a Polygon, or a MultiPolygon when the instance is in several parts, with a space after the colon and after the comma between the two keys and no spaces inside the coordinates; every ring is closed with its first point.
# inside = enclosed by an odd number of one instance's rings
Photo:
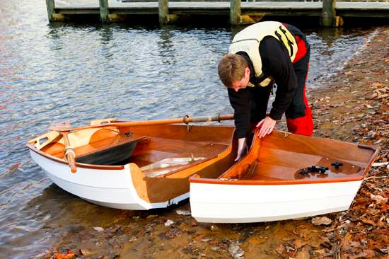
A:
{"type": "Polygon", "coordinates": [[[260,1],[240,0],[202,2],[121,2],[116,0],[46,0],[50,21],[62,21],[74,15],[96,15],[101,21],[126,20],[129,16],[159,16],[161,23],[178,21],[180,16],[225,17],[232,24],[255,23],[264,16],[318,16],[324,25],[339,25],[342,17],[389,18],[388,2],[338,1],[260,1]],[[328,21],[326,21],[326,19],[328,21]]]}

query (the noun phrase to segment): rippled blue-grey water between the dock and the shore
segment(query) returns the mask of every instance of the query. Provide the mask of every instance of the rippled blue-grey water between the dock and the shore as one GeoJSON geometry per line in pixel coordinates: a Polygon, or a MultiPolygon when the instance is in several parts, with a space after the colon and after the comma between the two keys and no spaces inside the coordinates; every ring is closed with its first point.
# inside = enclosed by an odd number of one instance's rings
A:
{"type": "MultiPolygon", "coordinates": [[[[306,29],[307,88],[325,87],[373,32],[306,29]]],[[[232,113],[216,73],[236,29],[47,23],[45,1],[0,4],[0,258],[30,258],[119,212],[53,185],[25,142],[54,122],[85,125],[232,113]]]]}

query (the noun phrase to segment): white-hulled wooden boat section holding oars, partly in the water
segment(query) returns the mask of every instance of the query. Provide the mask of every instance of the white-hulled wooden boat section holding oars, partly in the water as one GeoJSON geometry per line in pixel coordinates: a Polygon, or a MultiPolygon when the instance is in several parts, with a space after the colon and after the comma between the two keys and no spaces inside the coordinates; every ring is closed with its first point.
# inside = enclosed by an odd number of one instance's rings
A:
{"type": "Polygon", "coordinates": [[[163,208],[189,197],[191,175],[216,178],[236,156],[234,127],[171,123],[232,117],[96,120],[88,127],[47,132],[27,146],[56,185],[84,200],[118,209],[163,208]],[[66,150],[76,155],[74,164],[66,150]]]}

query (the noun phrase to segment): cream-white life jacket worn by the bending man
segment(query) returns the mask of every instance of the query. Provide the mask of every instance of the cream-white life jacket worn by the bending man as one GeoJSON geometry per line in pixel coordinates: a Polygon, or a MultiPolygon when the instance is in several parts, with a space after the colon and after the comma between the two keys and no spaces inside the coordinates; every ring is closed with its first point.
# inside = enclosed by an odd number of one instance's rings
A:
{"type": "MultiPolygon", "coordinates": [[[[297,52],[297,43],[294,36],[286,29],[286,27],[279,22],[265,21],[250,25],[235,35],[230,47],[228,48],[229,54],[236,54],[238,52],[245,52],[250,57],[250,60],[254,66],[255,77],[261,79],[262,72],[262,59],[260,56],[260,43],[263,38],[272,36],[284,43],[286,50],[289,52],[291,61],[294,61],[297,52]]],[[[273,81],[272,76],[260,81],[260,86],[268,86],[273,81]]],[[[249,83],[248,86],[254,86],[249,83]]]]}

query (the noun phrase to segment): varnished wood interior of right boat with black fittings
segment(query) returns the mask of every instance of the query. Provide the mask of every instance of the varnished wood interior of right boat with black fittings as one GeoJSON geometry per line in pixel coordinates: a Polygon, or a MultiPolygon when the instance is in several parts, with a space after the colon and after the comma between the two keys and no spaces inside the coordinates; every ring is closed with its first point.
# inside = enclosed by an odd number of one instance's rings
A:
{"type": "Polygon", "coordinates": [[[255,136],[249,153],[218,180],[248,184],[359,180],[378,152],[372,146],[279,131],[262,139],[255,136]]]}

